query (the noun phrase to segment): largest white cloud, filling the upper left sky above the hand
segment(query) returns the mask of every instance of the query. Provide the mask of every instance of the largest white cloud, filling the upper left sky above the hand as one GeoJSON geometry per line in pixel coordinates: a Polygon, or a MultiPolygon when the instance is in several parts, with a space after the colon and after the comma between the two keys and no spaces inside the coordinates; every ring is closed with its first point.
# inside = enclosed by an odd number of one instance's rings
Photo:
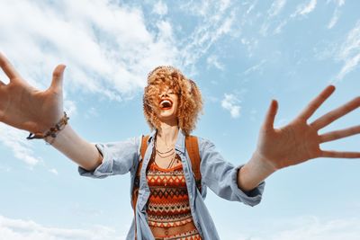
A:
{"type": "Polygon", "coordinates": [[[177,63],[177,49],[164,31],[148,31],[138,8],[111,0],[5,0],[0,15],[2,50],[40,88],[65,63],[64,83],[73,91],[121,101],[146,83],[153,67],[177,63]]]}

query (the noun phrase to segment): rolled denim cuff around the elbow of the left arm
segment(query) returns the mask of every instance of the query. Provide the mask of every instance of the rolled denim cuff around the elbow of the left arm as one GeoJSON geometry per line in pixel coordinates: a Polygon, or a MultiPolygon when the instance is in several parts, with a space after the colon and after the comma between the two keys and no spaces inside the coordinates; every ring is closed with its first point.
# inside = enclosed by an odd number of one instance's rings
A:
{"type": "Polygon", "coordinates": [[[103,156],[103,163],[95,168],[94,171],[87,171],[85,168],[78,166],[77,171],[81,176],[93,177],[93,178],[104,178],[112,175],[112,164],[113,161],[106,154],[104,146],[102,144],[95,144],[95,147],[99,153],[103,156]]]}

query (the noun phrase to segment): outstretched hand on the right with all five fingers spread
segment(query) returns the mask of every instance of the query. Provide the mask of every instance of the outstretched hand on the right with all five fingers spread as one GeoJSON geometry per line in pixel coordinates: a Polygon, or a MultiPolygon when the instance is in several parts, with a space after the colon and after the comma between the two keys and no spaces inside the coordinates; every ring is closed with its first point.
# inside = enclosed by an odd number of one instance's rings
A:
{"type": "Polygon", "coordinates": [[[273,101],[266,114],[266,120],[260,129],[257,154],[266,159],[267,163],[275,169],[281,169],[289,165],[300,164],[311,158],[327,157],[360,157],[360,152],[337,152],[320,149],[323,142],[360,133],[360,125],[348,129],[331,131],[322,135],[318,131],[328,126],[334,120],[338,120],[350,111],[360,106],[360,97],[347,102],[333,111],[321,116],[310,124],[307,123],[311,115],[325,102],[335,91],[335,86],[329,85],[319,96],[288,125],[280,129],[274,129],[277,102],[273,101]]]}

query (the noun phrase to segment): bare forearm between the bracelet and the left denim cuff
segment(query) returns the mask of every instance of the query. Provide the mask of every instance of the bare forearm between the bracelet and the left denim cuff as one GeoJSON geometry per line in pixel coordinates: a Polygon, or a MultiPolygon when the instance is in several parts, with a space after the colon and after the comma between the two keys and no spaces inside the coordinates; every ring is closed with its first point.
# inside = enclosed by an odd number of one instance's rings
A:
{"type": "Polygon", "coordinates": [[[103,160],[94,144],[80,138],[68,124],[58,132],[52,146],[88,171],[94,170],[103,160]]]}

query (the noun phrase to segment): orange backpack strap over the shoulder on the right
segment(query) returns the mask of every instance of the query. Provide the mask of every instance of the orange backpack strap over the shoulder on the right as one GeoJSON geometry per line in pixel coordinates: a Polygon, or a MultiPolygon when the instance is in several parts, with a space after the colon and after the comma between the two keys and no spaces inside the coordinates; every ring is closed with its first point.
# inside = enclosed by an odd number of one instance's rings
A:
{"type": "Polygon", "coordinates": [[[200,172],[200,153],[199,144],[195,136],[187,136],[185,138],[185,147],[192,162],[193,174],[195,175],[196,186],[201,191],[202,173],[200,172]]]}

